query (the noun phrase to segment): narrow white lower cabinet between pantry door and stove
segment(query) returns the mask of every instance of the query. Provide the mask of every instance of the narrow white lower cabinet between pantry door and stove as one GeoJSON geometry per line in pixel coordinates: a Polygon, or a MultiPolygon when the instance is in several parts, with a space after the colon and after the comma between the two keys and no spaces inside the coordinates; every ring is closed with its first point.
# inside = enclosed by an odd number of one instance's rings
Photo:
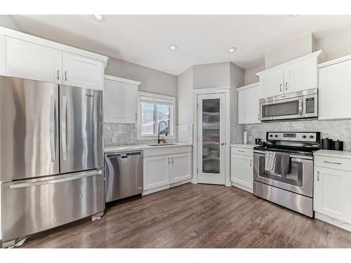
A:
{"type": "Polygon", "coordinates": [[[252,193],[253,149],[232,147],[230,180],[234,187],[239,187],[252,193]]]}

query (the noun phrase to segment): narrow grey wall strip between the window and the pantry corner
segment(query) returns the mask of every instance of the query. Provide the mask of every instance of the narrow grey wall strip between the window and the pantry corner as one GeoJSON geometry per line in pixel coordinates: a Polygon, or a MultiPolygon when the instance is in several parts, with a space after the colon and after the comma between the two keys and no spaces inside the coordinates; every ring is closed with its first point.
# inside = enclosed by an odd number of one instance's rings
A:
{"type": "Polygon", "coordinates": [[[177,125],[192,123],[192,67],[178,76],[177,125]]]}

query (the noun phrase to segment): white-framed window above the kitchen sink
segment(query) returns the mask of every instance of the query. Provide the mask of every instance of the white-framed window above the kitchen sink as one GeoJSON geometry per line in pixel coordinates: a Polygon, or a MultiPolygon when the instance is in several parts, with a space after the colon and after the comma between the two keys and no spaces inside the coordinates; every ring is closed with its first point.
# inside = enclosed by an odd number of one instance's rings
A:
{"type": "Polygon", "coordinates": [[[140,92],[138,140],[157,139],[159,128],[161,135],[173,137],[175,104],[175,97],[140,92]]]}

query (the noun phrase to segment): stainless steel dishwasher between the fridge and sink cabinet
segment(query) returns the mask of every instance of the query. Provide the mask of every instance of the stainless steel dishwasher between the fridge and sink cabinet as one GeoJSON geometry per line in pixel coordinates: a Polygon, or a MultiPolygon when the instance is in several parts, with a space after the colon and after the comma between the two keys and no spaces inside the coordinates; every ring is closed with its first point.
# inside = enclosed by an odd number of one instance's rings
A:
{"type": "Polygon", "coordinates": [[[143,153],[105,154],[105,201],[143,193],[143,153]]]}

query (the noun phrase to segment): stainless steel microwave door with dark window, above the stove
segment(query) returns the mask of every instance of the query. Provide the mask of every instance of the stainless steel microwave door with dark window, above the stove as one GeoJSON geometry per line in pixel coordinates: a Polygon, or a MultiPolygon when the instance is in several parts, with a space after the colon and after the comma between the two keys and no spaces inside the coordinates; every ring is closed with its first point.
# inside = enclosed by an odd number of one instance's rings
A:
{"type": "Polygon", "coordinates": [[[260,121],[303,118],[303,97],[260,102],[260,121]]]}

